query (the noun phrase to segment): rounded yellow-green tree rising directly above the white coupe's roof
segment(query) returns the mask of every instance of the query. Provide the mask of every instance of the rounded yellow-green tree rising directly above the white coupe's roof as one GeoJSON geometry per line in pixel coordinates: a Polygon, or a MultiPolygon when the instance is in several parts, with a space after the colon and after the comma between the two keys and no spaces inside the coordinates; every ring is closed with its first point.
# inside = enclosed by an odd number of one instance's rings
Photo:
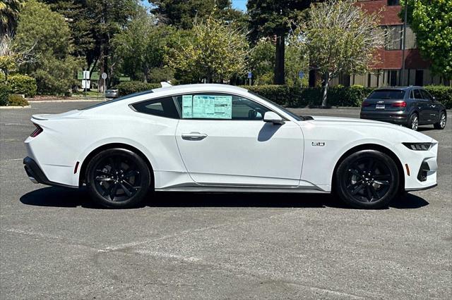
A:
{"type": "Polygon", "coordinates": [[[168,63],[186,80],[222,82],[245,72],[248,54],[246,33],[210,15],[196,20],[188,35],[180,38],[168,63]]]}

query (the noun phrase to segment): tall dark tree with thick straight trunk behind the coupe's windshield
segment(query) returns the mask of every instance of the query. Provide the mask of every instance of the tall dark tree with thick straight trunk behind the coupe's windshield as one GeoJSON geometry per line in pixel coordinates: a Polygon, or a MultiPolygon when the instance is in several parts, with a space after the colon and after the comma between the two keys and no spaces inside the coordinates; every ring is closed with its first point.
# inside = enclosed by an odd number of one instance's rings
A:
{"type": "Polygon", "coordinates": [[[309,7],[309,0],[248,0],[251,39],[275,38],[274,83],[285,83],[285,37],[290,32],[290,20],[297,20],[299,12],[309,7]]]}

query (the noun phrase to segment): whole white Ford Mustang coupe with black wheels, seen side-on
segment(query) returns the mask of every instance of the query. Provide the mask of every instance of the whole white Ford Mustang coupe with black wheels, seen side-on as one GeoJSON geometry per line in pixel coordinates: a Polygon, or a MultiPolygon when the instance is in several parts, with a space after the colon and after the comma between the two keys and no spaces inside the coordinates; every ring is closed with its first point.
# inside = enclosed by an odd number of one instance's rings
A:
{"type": "Polygon", "coordinates": [[[246,89],[180,85],[33,115],[33,182],[88,186],[109,207],[150,191],[335,192],[380,208],[436,185],[438,143],[371,120],[300,117],[246,89]]]}

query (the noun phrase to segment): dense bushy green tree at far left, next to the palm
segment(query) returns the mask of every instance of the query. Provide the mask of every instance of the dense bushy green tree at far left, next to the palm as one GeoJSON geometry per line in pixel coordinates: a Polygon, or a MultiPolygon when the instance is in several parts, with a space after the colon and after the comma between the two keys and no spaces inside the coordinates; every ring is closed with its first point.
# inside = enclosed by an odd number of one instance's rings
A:
{"type": "Polygon", "coordinates": [[[46,4],[27,1],[20,13],[14,42],[23,49],[34,47],[39,55],[39,61],[20,67],[23,73],[36,78],[38,92],[64,93],[71,88],[78,61],[71,56],[71,33],[62,15],[46,4]]]}

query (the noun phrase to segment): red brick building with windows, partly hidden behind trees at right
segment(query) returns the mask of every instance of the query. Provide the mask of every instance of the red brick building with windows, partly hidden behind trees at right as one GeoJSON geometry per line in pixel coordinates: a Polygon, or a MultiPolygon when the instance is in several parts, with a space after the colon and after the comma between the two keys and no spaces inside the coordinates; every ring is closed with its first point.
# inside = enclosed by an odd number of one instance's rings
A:
{"type": "Polygon", "coordinates": [[[429,70],[416,46],[416,36],[409,25],[406,27],[405,50],[403,50],[403,21],[399,18],[402,10],[399,0],[358,0],[369,13],[381,12],[381,27],[388,32],[384,49],[379,49],[379,58],[371,66],[371,72],[364,75],[340,75],[332,80],[332,85],[363,85],[364,87],[386,87],[396,85],[450,85],[429,70]],[[405,53],[404,53],[405,52],[405,53]],[[403,69],[405,58],[405,69],[403,69]]]}

